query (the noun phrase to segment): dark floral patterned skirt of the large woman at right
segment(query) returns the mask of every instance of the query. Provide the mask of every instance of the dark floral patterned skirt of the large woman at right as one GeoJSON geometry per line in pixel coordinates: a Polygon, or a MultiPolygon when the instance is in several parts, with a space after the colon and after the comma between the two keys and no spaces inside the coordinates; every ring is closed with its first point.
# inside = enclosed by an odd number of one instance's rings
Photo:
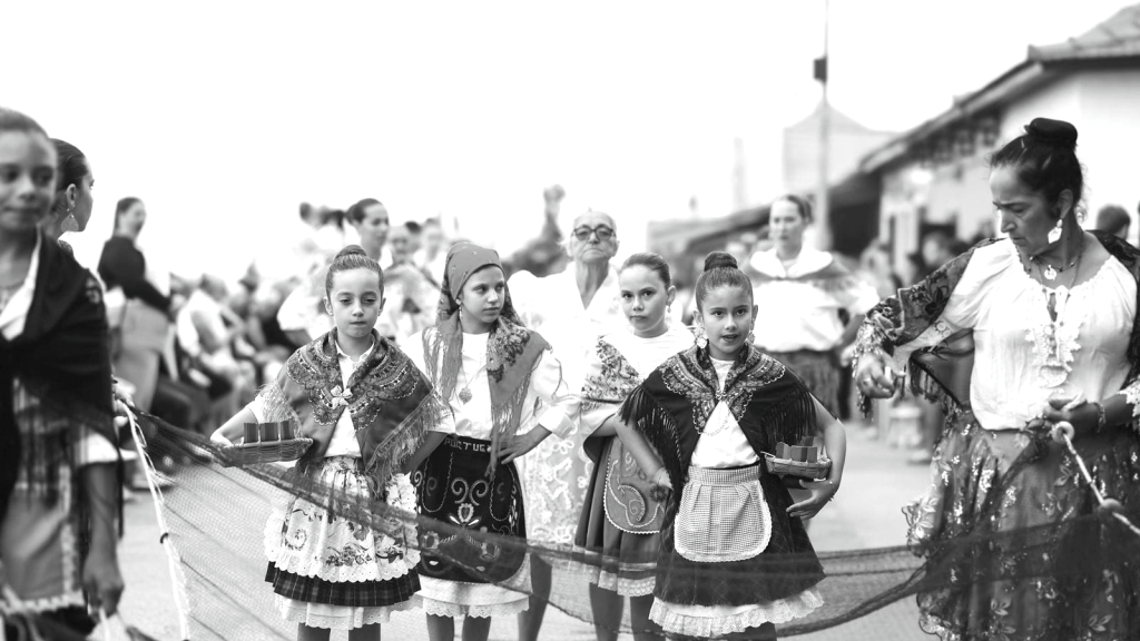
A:
{"type": "MultiPolygon", "coordinates": [[[[1140,508],[1140,439],[1108,428],[1078,439],[1100,489],[1140,508]]],[[[1097,518],[1067,448],[1015,430],[947,425],[927,493],[904,509],[926,558],[920,625],[944,640],[1140,639],[1140,539],[1097,518]]]]}

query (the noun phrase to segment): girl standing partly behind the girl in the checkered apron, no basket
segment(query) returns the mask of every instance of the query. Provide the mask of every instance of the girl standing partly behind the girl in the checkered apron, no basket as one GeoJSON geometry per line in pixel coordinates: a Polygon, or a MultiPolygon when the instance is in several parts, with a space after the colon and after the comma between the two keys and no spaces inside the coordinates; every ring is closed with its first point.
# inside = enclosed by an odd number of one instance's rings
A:
{"type": "Polygon", "coordinates": [[[634,639],[661,639],[649,619],[653,573],[661,544],[666,502],[661,489],[621,446],[614,430],[618,407],[665,359],[693,346],[693,333],[670,327],[666,310],[676,290],[669,266],[656,253],[626,259],[618,273],[621,309],[629,327],[598,339],[587,359],[580,427],[594,476],[575,543],[587,561],[589,601],[598,641],[614,641],[624,597],[629,598],[634,639]]]}

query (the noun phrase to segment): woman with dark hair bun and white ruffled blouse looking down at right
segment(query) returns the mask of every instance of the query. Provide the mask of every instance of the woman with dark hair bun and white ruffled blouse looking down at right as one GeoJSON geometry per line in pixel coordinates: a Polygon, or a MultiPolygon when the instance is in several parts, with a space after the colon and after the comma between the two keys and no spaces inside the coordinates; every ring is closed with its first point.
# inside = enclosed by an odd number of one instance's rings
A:
{"type": "Polygon", "coordinates": [[[1061,433],[1108,506],[1134,516],[1140,251],[1081,228],[1076,139],[1039,117],[994,153],[990,192],[1008,238],[901,290],[860,331],[863,395],[889,397],[909,372],[948,409],[930,487],[906,509],[911,546],[946,577],[918,597],[922,628],[943,639],[1140,638],[1135,535],[1096,518],[1061,433]],[[968,384],[934,366],[970,357],[968,384]]]}

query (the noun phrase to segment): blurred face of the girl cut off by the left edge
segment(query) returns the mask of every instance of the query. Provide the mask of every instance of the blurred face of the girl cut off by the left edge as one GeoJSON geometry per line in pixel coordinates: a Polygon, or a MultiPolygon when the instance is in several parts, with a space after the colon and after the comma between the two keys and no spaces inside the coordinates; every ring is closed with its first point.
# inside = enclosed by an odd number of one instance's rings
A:
{"type": "Polygon", "coordinates": [[[0,233],[33,232],[55,195],[55,146],[40,133],[0,133],[0,233]]]}

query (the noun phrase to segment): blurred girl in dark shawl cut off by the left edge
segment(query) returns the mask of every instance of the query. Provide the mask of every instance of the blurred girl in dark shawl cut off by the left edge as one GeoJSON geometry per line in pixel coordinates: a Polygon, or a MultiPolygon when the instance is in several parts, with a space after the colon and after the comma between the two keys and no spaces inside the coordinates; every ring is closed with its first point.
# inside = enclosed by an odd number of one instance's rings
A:
{"type": "Polygon", "coordinates": [[[89,608],[114,614],[123,591],[121,476],[103,289],[40,228],[56,163],[35,121],[0,108],[0,581],[15,597],[0,618],[85,635],[89,608]]]}

